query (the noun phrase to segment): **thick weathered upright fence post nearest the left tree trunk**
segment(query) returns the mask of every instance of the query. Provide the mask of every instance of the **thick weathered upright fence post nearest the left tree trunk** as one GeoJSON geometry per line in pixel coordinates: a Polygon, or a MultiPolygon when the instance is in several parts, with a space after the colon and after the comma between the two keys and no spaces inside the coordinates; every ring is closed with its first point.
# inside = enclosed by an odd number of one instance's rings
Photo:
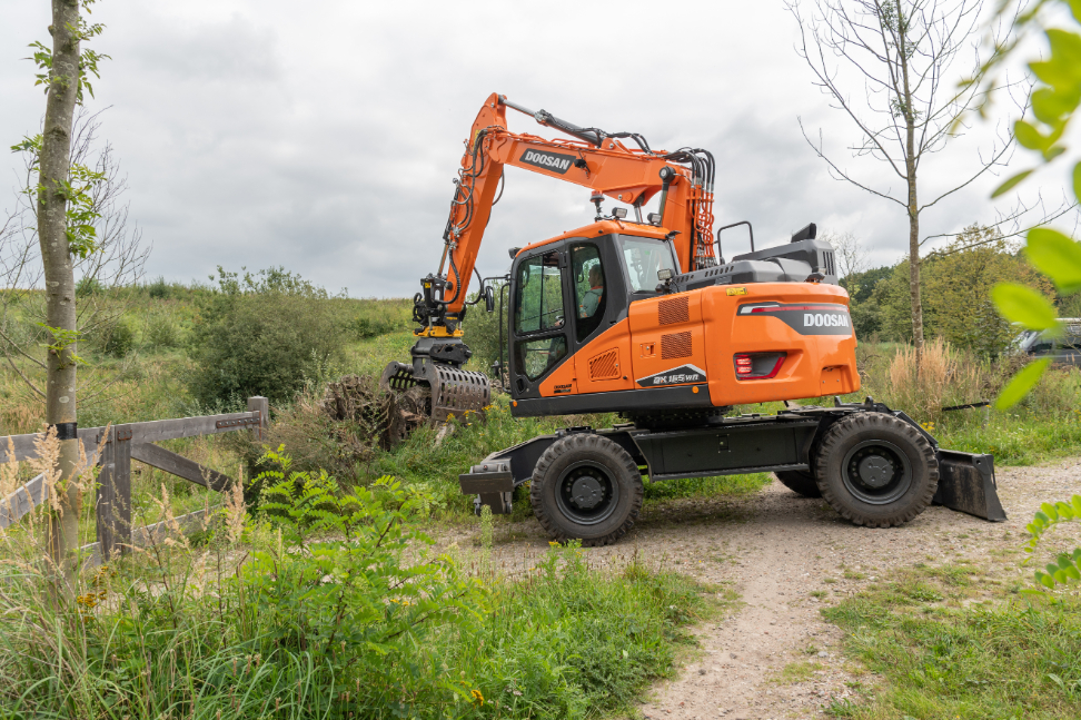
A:
{"type": "Polygon", "coordinates": [[[127,554],[131,544],[131,430],[109,427],[101,451],[96,509],[101,562],[117,552],[127,554]]]}

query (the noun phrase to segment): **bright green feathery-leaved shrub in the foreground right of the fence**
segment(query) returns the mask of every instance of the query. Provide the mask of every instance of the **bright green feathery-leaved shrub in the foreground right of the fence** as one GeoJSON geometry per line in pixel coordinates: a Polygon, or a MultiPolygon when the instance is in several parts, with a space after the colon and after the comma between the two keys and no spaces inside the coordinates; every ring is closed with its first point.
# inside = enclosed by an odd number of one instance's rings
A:
{"type": "Polygon", "coordinates": [[[280,447],[264,461],[275,469],[256,479],[259,509],[275,516],[274,530],[245,565],[244,583],[268,639],[309,653],[357,700],[449,690],[468,701],[466,679],[432,672],[442,659],[426,653],[425,638],[477,632],[488,593],[448,555],[417,554],[432,544],[417,526],[425,499],[390,477],[344,489],[326,471],[291,470],[280,447]]]}

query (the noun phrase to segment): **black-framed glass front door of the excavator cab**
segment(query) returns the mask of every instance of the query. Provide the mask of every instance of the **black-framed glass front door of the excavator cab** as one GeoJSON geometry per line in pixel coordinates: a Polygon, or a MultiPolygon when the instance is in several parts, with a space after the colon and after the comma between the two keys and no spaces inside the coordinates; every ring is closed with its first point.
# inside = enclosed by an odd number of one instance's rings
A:
{"type": "MultiPolygon", "coordinates": [[[[545,248],[515,267],[509,318],[510,394],[515,400],[540,397],[542,383],[569,358],[566,276],[563,248],[545,248]]],[[[573,393],[574,388],[561,391],[573,393]]]]}

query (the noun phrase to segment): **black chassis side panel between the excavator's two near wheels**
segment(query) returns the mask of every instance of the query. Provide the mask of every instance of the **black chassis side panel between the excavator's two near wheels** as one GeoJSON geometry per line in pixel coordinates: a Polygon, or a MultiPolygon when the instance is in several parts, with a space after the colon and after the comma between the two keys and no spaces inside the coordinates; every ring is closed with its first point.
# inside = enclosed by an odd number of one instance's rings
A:
{"type": "Polygon", "coordinates": [[[807,470],[819,418],[738,421],[668,432],[635,432],[649,480],[807,470]]]}

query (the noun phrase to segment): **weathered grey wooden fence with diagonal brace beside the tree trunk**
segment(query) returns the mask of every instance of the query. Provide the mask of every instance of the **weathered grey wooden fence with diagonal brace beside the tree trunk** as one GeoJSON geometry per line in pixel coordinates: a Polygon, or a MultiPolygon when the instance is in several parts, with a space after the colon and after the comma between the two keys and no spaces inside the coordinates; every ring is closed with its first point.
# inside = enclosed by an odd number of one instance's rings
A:
{"type": "MultiPolygon", "coordinates": [[[[269,411],[267,398],[257,396],[248,398],[246,413],[127,423],[111,425],[108,428],[79,428],[79,440],[86,448],[87,457],[101,466],[98,473],[95,513],[102,562],[108,562],[108,559],[118,551],[127,552],[131,546],[132,460],[221,492],[232,484],[231,477],[153,443],[178,437],[217,435],[238,430],[256,430],[261,438],[269,422],[269,411]],[[107,431],[108,435],[105,436],[107,431]],[[100,456],[98,456],[99,447],[100,456]]],[[[36,457],[38,454],[33,443],[36,436],[0,436],[0,463],[23,462],[36,457]],[[14,448],[13,454],[9,452],[9,447],[14,448]]],[[[0,499],[0,529],[9,526],[41,504],[44,500],[44,490],[43,479],[38,475],[7,499],[0,499]]]]}

